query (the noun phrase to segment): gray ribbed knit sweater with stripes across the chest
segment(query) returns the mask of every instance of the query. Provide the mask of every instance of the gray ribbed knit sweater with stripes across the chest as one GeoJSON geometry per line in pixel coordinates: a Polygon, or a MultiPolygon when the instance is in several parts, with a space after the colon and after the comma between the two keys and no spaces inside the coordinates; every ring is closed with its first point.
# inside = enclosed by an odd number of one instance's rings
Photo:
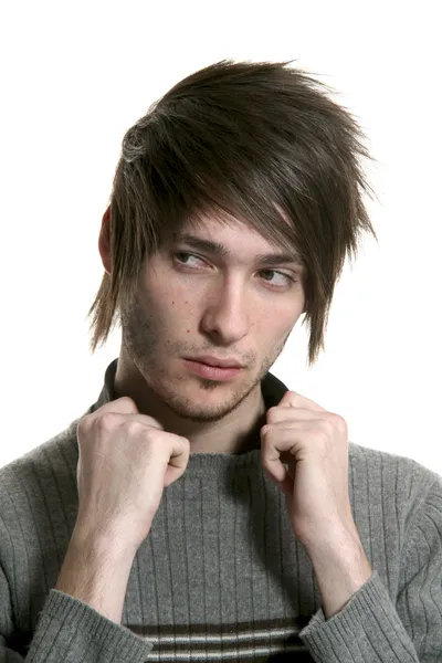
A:
{"type": "MultiPolygon", "coordinates": [[[[84,414],[115,398],[116,365],[84,414]]],[[[262,390],[270,408],[286,387],[267,373],[262,390]]],[[[442,662],[442,478],[354,443],[373,572],[329,620],[259,442],[190,454],[134,559],[122,624],[52,589],[77,513],[78,419],[0,470],[0,663],[442,662]]]]}

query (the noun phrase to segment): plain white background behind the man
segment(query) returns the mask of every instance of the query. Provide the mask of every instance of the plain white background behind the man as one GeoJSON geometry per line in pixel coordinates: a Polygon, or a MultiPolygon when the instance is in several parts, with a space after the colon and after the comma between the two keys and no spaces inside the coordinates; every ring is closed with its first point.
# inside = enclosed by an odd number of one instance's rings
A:
{"type": "Polygon", "coordinates": [[[439,2],[3,7],[0,465],[80,417],[118,356],[118,329],[90,355],[86,313],[125,130],[218,60],[296,59],[368,135],[379,245],[367,235],[347,264],[317,365],[297,326],[272,371],[341,414],[352,442],[442,473],[439,2]]]}

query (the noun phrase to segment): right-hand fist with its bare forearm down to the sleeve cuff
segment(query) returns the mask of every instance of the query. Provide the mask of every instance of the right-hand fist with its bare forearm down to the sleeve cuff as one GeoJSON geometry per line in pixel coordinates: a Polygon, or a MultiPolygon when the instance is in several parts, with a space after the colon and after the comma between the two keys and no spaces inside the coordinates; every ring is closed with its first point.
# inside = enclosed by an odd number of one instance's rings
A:
{"type": "Polygon", "coordinates": [[[307,549],[329,619],[372,573],[351,514],[347,424],[287,391],[267,410],[261,462],[285,494],[293,532],[307,549]]]}

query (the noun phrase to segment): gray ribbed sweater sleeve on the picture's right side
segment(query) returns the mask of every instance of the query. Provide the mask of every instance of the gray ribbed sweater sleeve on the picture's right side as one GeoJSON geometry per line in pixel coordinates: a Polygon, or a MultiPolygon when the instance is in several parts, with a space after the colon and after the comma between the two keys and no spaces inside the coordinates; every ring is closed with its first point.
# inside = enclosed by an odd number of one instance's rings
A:
{"type": "Polygon", "coordinates": [[[317,663],[442,661],[442,477],[419,507],[402,554],[396,604],[378,572],[329,620],[299,633],[317,663]]]}

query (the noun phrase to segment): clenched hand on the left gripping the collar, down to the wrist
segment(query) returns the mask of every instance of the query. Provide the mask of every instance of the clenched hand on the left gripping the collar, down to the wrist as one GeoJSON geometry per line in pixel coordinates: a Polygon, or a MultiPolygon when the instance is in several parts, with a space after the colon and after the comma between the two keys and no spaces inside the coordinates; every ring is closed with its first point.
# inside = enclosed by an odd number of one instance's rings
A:
{"type": "Polygon", "coordinates": [[[165,432],[128,397],[83,417],[77,440],[75,528],[93,538],[117,536],[126,548],[134,547],[135,556],[149,534],[164,488],[186,471],[189,440],[165,432]]]}

